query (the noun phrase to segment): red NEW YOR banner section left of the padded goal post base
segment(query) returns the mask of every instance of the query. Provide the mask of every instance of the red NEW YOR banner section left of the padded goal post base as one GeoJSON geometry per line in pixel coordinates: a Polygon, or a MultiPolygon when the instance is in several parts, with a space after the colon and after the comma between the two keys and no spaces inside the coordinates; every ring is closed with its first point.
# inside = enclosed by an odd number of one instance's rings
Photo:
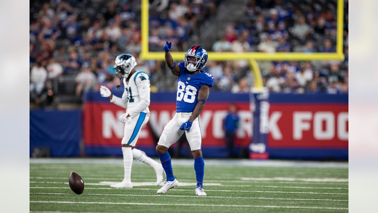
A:
{"type": "MultiPolygon", "coordinates": [[[[248,104],[239,104],[241,128],[237,132],[236,145],[248,146],[252,134],[252,114],[248,104]]],[[[153,135],[157,137],[164,126],[172,119],[175,103],[151,103],[150,120],[145,125],[138,139],[139,146],[155,146],[153,135]]],[[[225,146],[223,120],[227,114],[228,104],[206,104],[200,116],[202,146],[225,146]]],[[[118,117],[125,110],[114,104],[85,103],[84,138],[85,145],[119,146],[124,132],[124,124],[118,117]]]]}

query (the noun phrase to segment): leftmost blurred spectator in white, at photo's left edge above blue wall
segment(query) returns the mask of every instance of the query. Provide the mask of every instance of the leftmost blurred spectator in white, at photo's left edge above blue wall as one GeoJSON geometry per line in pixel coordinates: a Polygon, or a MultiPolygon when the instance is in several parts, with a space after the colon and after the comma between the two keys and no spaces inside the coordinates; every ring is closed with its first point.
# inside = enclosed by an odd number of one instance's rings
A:
{"type": "Polygon", "coordinates": [[[42,92],[47,78],[47,71],[40,61],[37,61],[30,72],[30,98],[36,99],[42,92]]]}

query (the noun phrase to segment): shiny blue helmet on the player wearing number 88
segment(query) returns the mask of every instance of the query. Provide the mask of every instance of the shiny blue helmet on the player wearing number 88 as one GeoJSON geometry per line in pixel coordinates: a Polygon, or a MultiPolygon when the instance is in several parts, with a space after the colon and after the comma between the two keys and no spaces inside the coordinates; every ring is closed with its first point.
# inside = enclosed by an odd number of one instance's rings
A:
{"type": "Polygon", "coordinates": [[[206,66],[208,53],[201,46],[193,46],[185,54],[184,63],[188,71],[194,72],[206,66]]]}

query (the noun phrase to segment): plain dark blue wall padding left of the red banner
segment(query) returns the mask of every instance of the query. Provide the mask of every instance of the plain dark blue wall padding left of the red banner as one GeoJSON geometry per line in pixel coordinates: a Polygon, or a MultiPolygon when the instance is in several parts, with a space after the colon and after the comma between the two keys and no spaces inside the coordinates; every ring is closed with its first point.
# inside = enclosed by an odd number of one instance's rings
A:
{"type": "Polygon", "coordinates": [[[81,132],[81,110],[31,110],[30,157],[37,147],[50,149],[51,157],[80,156],[81,132]]]}

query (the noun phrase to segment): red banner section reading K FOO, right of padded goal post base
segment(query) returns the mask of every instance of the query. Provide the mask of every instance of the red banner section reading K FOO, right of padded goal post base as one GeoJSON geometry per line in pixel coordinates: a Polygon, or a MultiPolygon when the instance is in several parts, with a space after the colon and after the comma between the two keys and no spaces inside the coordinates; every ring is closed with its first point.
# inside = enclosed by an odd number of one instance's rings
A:
{"type": "Polygon", "coordinates": [[[348,147],[348,106],[271,104],[268,147],[348,147]]]}

